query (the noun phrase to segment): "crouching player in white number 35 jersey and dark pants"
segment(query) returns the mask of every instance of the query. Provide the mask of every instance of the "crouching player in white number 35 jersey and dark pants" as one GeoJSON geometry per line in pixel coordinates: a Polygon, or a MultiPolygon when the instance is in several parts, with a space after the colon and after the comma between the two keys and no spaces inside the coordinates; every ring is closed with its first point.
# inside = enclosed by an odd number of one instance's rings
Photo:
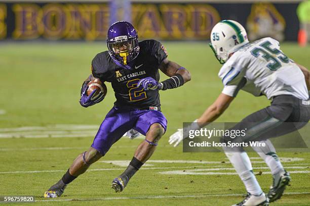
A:
{"type": "MultiPolygon", "coordinates": [[[[250,43],[246,30],[236,21],[224,20],[217,23],[211,31],[210,46],[223,64],[218,74],[224,85],[222,93],[199,119],[171,135],[169,143],[176,146],[186,137],[183,137],[183,131],[185,134],[185,131],[202,128],[216,120],[240,89],[254,96],[265,95],[272,100],[271,105],[249,115],[234,128],[247,128],[243,142],[255,140],[266,144],[253,149],[273,174],[274,182],[268,194],[265,195],[260,188],[243,147],[223,147],[223,150],[247,190],[246,198],[235,205],[268,205],[269,201],[282,196],[291,180],[268,138],[290,133],[309,121],[309,72],[284,55],[279,42],[273,38],[266,37],[250,43]],[[299,124],[291,127],[286,123],[299,124]]],[[[227,142],[232,141],[232,138],[225,136],[221,140],[227,142]]]]}

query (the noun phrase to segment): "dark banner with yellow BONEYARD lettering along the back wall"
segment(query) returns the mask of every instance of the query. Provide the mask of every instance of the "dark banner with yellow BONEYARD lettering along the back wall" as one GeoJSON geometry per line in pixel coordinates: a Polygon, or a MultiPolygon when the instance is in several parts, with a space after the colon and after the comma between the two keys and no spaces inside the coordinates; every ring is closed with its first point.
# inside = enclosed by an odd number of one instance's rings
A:
{"type": "MultiPolygon", "coordinates": [[[[263,36],[296,40],[297,6],[297,3],[132,4],[131,22],[142,39],[209,39],[218,21],[232,19],[245,25],[252,40],[263,36]]],[[[110,15],[109,4],[0,2],[0,40],[103,40],[110,15]]]]}

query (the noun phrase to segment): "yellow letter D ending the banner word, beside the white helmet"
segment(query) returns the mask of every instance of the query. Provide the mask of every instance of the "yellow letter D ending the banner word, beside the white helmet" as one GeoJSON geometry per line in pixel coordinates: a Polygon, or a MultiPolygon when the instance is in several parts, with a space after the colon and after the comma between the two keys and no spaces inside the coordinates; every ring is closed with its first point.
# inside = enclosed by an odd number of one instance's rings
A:
{"type": "Polygon", "coordinates": [[[213,26],[220,21],[218,12],[210,5],[188,5],[190,26],[197,38],[210,38],[213,26]]]}

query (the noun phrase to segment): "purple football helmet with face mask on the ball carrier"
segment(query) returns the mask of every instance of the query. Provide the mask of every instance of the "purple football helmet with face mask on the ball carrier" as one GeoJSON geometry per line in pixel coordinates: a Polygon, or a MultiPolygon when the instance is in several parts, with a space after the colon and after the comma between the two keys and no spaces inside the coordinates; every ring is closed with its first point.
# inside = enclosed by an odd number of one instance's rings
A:
{"type": "Polygon", "coordinates": [[[139,54],[138,34],[129,22],[119,21],[112,24],[106,42],[110,57],[123,65],[127,65],[139,54]]]}

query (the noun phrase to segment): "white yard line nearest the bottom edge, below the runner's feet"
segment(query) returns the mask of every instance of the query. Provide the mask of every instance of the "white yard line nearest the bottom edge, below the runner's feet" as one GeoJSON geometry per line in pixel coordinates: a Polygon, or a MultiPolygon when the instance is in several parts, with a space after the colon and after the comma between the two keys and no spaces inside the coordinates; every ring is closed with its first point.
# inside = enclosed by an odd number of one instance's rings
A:
{"type": "MultiPolygon", "coordinates": [[[[285,195],[310,194],[310,192],[285,192],[285,195]]],[[[99,198],[74,198],[74,199],[42,199],[36,202],[45,201],[98,201],[98,200],[118,200],[118,199],[169,199],[169,198],[197,198],[197,197],[225,197],[242,196],[243,194],[199,194],[199,195],[169,195],[169,196],[133,196],[133,197],[99,197],[99,198]]]]}

